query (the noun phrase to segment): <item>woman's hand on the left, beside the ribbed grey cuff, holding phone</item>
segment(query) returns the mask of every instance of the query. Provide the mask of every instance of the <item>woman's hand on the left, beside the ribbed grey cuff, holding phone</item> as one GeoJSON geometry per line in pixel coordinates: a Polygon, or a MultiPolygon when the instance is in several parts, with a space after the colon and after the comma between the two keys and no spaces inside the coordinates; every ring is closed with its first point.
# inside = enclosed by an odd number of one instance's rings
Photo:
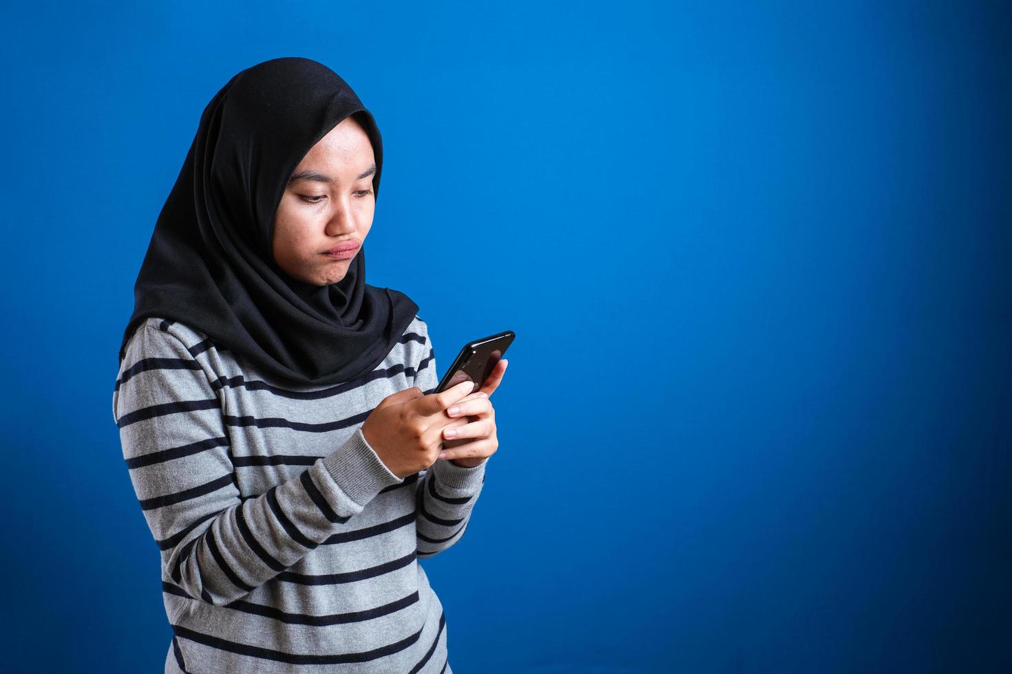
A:
{"type": "Polygon", "coordinates": [[[362,436],[394,475],[403,479],[425,470],[439,458],[444,428],[488,408],[488,396],[471,393],[474,388],[469,380],[442,393],[425,395],[417,386],[392,393],[362,422],[362,436]],[[446,413],[452,405],[460,406],[457,417],[446,413]]]}

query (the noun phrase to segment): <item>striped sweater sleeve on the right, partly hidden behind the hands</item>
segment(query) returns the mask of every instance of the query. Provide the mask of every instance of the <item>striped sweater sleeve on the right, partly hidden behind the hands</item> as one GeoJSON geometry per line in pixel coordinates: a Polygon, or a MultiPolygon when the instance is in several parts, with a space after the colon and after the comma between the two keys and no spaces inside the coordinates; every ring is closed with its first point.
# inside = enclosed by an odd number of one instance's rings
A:
{"type": "MultiPolygon", "coordinates": [[[[435,351],[424,322],[422,335],[425,348],[422,350],[423,358],[415,369],[415,386],[428,394],[435,391],[439,381],[436,377],[435,351]]],[[[472,509],[485,484],[487,463],[488,459],[474,468],[466,468],[446,459],[437,459],[423,473],[415,488],[418,557],[432,557],[463,536],[472,509]]]]}

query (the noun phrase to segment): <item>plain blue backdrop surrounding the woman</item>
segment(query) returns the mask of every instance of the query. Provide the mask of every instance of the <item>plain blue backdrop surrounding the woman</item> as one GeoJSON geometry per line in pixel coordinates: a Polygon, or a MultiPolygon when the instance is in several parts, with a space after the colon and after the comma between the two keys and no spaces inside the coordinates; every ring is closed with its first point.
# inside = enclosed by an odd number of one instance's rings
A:
{"type": "Polygon", "coordinates": [[[4,670],[161,671],[117,348],[203,106],[282,56],[378,121],[368,280],[440,374],[517,333],[424,562],[454,671],[1012,668],[1012,10],[421,4],[0,10],[4,670]]]}

